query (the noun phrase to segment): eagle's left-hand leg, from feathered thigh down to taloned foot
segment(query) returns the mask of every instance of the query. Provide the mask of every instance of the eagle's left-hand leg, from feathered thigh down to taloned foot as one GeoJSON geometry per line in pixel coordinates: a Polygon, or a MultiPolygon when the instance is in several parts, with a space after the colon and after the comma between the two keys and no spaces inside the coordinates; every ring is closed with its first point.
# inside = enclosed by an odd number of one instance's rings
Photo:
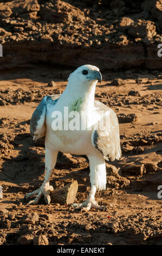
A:
{"type": "Polygon", "coordinates": [[[50,192],[54,190],[53,186],[49,185],[50,175],[55,167],[57,160],[57,153],[55,151],[51,151],[46,148],[46,156],[45,156],[45,178],[43,184],[37,190],[28,193],[24,196],[24,199],[28,199],[37,194],[34,200],[30,200],[28,204],[38,204],[40,198],[44,195],[44,200],[49,205],[50,204],[50,192]]]}

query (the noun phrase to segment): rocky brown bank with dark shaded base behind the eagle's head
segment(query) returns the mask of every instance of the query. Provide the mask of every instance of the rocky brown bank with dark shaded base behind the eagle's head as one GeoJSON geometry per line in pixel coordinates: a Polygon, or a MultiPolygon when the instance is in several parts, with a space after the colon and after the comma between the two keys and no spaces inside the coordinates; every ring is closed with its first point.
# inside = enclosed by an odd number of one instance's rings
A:
{"type": "Polygon", "coordinates": [[[161,69],[162,1],[0,1],[0,69],[27,63],[161,69]]]}

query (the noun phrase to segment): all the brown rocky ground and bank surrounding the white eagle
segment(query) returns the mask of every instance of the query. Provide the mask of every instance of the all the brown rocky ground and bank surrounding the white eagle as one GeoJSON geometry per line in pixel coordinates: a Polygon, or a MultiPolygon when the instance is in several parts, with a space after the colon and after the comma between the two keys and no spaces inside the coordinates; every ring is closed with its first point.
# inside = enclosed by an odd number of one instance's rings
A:
{"type": "MultiPolygon", "coordinates": [[[[0,0],[0,245],[162,245],[161,21],[161,0],[0,0]],[[31,115],[87,63],[102,72],[95,99],[119,119],[122,157],[106,162],[106,190],[95,197],[107,210],[29,205],[45,153],[30,137],[31,115]]],[[[74,180],[81,203],[88,159],[59,153],[50,184],[74,180]]]]}

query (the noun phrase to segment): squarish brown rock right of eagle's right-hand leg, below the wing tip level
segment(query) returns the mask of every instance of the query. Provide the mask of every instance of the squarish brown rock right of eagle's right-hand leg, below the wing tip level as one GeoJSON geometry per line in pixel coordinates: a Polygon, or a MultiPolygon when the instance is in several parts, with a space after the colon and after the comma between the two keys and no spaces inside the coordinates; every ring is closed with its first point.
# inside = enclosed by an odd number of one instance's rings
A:
{"type": "Polygon", "coordinates": [[[122,167],[122,174],[129,176],[129,175],[142,175],[144,173],[145,167],[144,164],[140,163],[131,163],[126,164],[124,167],[122,167]]]}

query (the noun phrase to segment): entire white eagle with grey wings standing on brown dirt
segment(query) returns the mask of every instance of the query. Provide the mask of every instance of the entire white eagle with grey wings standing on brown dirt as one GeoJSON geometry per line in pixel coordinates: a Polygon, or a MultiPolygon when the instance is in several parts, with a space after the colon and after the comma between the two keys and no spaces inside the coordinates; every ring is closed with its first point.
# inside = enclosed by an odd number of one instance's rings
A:
{"type": "Polygon", "coordinates": [[[96,66],[83,65],[70,74],[62,95],[44,97],[33,113],[30,122],[31,136],[36,140],[46,135],[46,175],[42,186],[25,196],[29,198],[37,194],[35,200],[29,203],[37,204],[42,194],[46,202],[50,203],[50,191],[53,187],[49,185],[49,179],[55,167],[57,153],[61,151],[87,155],[89,159],[91,190],[88,199],[73,206],[86,210],[91,207],[104,209],[95,201],[95,192],[97,188],[106,189],[105,159],[119,160],[121,149],[116,114],[111,108],[94,100],[95,86],[101,79],[101,73],[96,66]],[[68,114],[64,112],[64,107],[66,111],[68,109],[68,114]],[[62,116],[60,130],[54,129],[55,113],[60,113],[62,116]],[[67,116],[70,118],[67,119],[67,116]],[[79,119],[74,122],[73,117],[79,117],[79,119]],[[72,129],[67,129],[67,124],[71,125],[72,129]]]}

